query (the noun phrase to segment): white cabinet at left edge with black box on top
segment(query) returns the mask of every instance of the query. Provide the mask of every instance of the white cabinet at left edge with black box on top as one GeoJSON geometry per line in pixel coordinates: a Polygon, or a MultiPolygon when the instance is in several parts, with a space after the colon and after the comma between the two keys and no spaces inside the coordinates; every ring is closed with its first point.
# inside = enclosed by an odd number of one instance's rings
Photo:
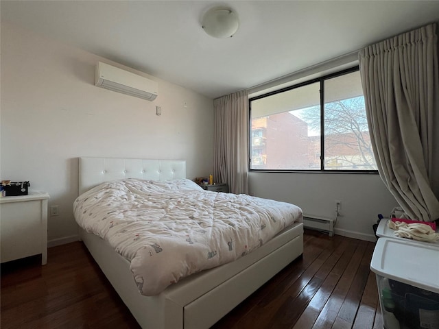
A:
{"type": "Polygon", "coordinates": [[[47,199],[45,192],[0,197],[1,263],[38,254],[47,263],[47,199]]]}

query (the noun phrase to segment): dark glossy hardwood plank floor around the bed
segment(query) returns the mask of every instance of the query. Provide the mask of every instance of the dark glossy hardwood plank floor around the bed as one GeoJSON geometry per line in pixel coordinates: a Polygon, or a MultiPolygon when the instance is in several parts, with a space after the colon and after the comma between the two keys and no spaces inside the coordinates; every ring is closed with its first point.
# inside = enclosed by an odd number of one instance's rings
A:
{"type": "MultiPolygon", "coordinates": [[[[305,231],[305,252],[213,326],[383,328],[375,243],[305,231]]],[[[1,328],[139,328],[80,242],[1,265],[1,328]]],[[[154,328],[151,328],[154,329],[154,328]]]]}

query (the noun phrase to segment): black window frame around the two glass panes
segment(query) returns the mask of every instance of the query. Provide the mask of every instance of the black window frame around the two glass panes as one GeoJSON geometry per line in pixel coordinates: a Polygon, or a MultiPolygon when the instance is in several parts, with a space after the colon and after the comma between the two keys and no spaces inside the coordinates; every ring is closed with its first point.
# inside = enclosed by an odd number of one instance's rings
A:
{"type": "Polygon", "coordinates": [[[353,66],[349,69],[344,69],[342,71],[337,71],[322,77],[317,77],[315,79],[307,80],[306,82],[300,82],[299,84],[294,84],[285,88],[271,91],[263,95],[258,95],[255,97],[250,97],[248,99],[248,171],[249,172],[280,172],[280,173],[372,173],[378,174],[377,169],[324,169],[324,81],[332,79],[334,77],[340,77],[348,73],[353,73],[359,71],[359,66],[353,66]],[[257,99],[262,99],[265,97],[270,97],[279,93],[285,93],[286,91],[307,86],[309,84],[320,83],[320,169],[252,169],[252,101],[257,99]]]}

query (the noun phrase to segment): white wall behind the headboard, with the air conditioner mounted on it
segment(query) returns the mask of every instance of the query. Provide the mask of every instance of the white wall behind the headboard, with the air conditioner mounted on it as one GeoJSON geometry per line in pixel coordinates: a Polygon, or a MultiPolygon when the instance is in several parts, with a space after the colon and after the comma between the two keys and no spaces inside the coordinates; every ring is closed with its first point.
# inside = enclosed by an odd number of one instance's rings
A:
{"type": "Polygon", "coordinates": [[[158,82],[155,101],[97,88],[98,60],[116,65],[1,22],[0,175],[29,180],[60,206],[51,245],[77,236],[79,156],[185,159],[188,178],[213,170],[212,99],[139,72],[158,82]]]}

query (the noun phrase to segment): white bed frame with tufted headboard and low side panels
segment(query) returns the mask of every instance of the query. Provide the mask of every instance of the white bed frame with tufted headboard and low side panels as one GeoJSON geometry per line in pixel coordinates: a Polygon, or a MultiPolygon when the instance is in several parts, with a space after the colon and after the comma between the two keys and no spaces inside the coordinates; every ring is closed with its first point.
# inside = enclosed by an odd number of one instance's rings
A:
{"type": "MultiPolygon", "coordinates": [[[[185,178],[186,162],[80,158],[79,177],[84,193],[108,180],[185,178]]],[[[126,258],[95,234],[80,230],[80,236],[144,329],[209,328],[303,252],[303,226],[296,223],[239,260],[189,276],[149,297],[139,293],[126,258]]]]}

